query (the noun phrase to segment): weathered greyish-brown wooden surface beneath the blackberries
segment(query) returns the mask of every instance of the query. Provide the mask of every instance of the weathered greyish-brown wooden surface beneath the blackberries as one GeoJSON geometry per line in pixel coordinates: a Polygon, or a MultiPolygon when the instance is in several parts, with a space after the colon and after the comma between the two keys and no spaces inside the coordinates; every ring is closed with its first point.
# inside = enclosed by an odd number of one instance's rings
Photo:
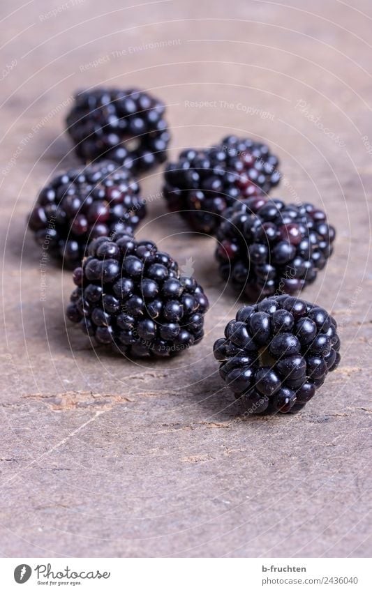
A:
{"type": "Polygon", "coordinates": [[[371,555],[371,3],[57,6],[2,2],[1,554],[371,555]],[[327,211],[335,253],[305,294],[336,316],[343,359],[303,413],[239,417],[211,346],[241,303],[214,241],[167,213],[161,169],[142,183],[140,236],[195,259],[211,301],[202,344],[146,363],[91,351],[65,324],[72,282],[52,263],[40,302],[25,218],[75,163],[64,116],[96,84],[163,98],[171,155],[230,131],[269,142],[284,173],[274,195],[327,211]]]}

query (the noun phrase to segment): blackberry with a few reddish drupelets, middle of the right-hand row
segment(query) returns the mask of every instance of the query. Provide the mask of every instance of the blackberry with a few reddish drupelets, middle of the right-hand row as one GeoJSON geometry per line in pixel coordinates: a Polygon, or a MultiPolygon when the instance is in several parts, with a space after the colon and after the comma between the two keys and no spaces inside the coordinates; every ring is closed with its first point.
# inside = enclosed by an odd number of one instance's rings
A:
{"type": "Polygon", "coordinates": [[[251,197],[228,208],[224,218],[216,234],[221,276],[252,301],[297,293],[332,255],[334,227],[312,204],[251,197]]]}

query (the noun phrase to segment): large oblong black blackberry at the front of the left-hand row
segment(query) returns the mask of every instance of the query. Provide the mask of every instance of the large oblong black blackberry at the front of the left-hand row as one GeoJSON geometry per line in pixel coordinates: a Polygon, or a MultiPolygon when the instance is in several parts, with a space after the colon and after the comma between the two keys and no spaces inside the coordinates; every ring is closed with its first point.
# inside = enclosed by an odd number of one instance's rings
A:
{"type": "Polygon", "coordinates": [[[173,356],[203,337],[207,296],[151,241],[99,237],[75,269],[67,317],[125,356],[173,356]]]}

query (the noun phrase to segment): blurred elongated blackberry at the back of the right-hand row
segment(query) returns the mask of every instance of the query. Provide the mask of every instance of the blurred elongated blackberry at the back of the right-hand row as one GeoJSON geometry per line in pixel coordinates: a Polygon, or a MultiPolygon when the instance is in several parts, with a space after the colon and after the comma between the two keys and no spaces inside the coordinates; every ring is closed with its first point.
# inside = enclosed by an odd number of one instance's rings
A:
{"type": "Polygon", "coordinates": [[[192,229],[214,234],[227,206],[278,185],[277,166],[265,144],[228,136],[210,149],[182,151],[165,169],[164,197],[192,229]]]}

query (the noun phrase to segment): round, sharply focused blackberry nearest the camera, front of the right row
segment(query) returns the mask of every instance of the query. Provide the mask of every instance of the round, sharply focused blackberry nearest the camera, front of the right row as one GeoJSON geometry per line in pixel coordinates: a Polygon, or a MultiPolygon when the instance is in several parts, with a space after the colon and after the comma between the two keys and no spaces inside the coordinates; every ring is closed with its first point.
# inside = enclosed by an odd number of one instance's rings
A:
{"type": "Polygon", "coordinates": [[[248,413],[299,411],[340,362],[336,321],[286,294],[244,306],[214,344],[220,374],[248,413]]]}

